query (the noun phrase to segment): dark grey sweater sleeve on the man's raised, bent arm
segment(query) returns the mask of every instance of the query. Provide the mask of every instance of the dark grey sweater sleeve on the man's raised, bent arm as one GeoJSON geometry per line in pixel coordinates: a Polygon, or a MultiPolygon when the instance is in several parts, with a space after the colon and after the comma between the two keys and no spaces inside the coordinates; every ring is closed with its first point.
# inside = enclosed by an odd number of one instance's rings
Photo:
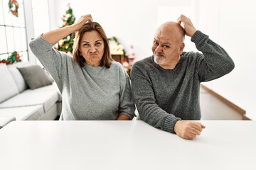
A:
{"type": "Polygon", "coordinates": [[[196,70],[200,81],[210,81],[231,72],[235,64],[223,47],[209,39],[208,35],[197,30],[191,41],[203,53],[198,57],[196,70]]]}

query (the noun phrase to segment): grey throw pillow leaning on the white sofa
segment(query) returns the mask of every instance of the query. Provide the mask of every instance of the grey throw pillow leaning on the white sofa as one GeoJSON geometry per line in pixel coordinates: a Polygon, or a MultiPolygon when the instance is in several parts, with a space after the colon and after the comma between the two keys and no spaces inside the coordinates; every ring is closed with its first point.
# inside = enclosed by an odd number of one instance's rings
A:
{"type": "Polygon", "coordinates": [[[53,83],[53,79],[39,65],[17,67],[30,89],[37,89],[53,83]]]}

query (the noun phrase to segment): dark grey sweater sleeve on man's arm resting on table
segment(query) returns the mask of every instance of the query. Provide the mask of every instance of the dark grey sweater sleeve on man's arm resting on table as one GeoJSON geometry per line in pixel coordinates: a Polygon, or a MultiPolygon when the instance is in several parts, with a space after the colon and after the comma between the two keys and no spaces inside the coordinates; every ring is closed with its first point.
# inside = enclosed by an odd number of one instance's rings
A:
{"type": "Polygon", "coordinates": [[[151,79],[147,69],[140,62],[132,66],[132,95],[139,111],[139,117],[154,128],[161,128],[167,132],[174,132],[174,125],[181,118],[167,113],[156,104],[151,79]]]}

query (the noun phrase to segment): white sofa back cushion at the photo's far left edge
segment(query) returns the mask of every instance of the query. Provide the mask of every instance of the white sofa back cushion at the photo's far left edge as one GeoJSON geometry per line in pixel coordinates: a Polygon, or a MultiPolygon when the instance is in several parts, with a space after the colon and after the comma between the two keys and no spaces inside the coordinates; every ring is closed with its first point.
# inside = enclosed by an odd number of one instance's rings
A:
{"type": "Polygon", "coordinates": [[[18,89],[6,64],[0,64],[0,77],[1,103],[2,101],[6,101],[8,98],[11,98],[12,96],[18,94],[18,89]]]}

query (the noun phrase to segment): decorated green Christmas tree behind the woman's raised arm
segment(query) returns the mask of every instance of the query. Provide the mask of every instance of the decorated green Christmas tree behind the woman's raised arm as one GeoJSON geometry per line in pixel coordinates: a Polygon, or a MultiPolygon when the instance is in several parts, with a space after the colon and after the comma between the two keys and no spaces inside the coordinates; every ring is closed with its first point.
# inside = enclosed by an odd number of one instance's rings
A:
{"type": "MultiPolygon", "coordinates": [[[[60,28],[63,28],[65,26],[70,26],[73,23],[75,23],[75,16],[73,15],[73,9],[70,7],[70,4],[68,4],[68,10],[65,11],[65,15],[63,15],[63,26],[60,28]]],[[[75,39],[75,33],[71,33],[66,38],[63,38],[58,42],[57,50],[64,51],[64,52],[73,52],[73,44],[75,39]]]]}

